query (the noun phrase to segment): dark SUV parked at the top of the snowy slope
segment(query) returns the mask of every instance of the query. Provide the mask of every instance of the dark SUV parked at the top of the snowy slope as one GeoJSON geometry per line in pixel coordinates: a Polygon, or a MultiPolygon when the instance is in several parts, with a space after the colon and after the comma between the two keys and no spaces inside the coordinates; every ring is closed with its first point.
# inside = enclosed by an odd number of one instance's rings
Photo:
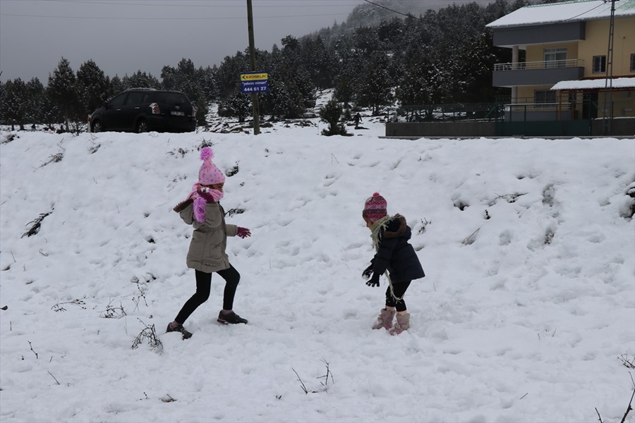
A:
{"type": "Polygon", "coordinates": [[[131,88],[117,94],[90,116],[90,129],[137,133],[190,132],[196,129],[196,109],[186,94],[152,88],[131,88]]]}

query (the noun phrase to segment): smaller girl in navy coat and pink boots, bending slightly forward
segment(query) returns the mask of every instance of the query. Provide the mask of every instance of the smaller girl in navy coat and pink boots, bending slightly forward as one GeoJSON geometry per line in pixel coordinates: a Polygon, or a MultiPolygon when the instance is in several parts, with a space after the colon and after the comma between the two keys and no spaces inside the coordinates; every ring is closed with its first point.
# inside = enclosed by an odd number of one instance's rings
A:
{"type": "Polygon", "coordinates": [[[380,276],[388,272],[386,307],[381,310],[373,329],[389,329],[391,335],[397,335],[410,327],[410,314],[406,309],[404,294],[411,281],[423,278],[425,273],[414,248],[408,242],[412,231],[406,224],[406,218],[400,214],[389,216],[387,202],[379,192],[366,200],[362,217],[370,229],[370,238],[375,247],[375,257],[363,271],[365,278],[370,277],[366,285],[379,286],[380,276]],[[395,314],[397,323],[393,327],[395,314]]]}

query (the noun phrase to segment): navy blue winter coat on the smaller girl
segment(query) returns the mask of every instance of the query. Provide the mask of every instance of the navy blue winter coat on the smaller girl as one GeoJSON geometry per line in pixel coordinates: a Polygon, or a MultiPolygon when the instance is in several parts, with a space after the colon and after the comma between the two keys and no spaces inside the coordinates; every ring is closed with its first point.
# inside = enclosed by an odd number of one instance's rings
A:
{"type": "Polygon", "coordinates": [[[379,245],[373,257],[373,274],[382,275],[386,270],[392,283],[423,278],[425,273],[412,245],[408,242],[412,230],[406,218],[395,214],[387,221],[378,234],[379,245]]]}

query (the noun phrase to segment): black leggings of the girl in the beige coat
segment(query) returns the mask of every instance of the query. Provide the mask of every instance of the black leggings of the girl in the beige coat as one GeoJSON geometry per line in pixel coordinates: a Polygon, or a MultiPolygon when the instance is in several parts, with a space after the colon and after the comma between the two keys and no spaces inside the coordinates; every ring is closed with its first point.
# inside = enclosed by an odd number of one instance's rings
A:
{"type": "MultiPolygon", "coordinates": [[[[229,264],[229,269],[219,270],[216,272],[225,280],[225,290],[223,293],[223,309],[231,310],[234,307],[234,295],[236,287],[241,280],[241,274],[238,273],[234,266],[229,264]]],[[[174,319],[177,323],[183,324],[203,302],[210,298],[210,290],[212,288],[212,274],[204,271],[195,271],[196,275],[196,292],[181,308],[181,311],[174,319]]]]}

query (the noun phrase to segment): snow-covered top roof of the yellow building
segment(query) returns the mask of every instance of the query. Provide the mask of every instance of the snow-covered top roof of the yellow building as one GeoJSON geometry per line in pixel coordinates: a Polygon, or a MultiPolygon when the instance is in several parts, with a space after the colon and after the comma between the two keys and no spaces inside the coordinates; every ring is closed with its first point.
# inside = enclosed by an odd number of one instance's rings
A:
{"type": "MultiPolygon", "coordinates": [[[[486,25],[490,28],[610,18],[611,1],[575,0],[524,6],[486,25]]],[[[615,16],[635,16],[635,0],[616,0],[615,16]]]]}

